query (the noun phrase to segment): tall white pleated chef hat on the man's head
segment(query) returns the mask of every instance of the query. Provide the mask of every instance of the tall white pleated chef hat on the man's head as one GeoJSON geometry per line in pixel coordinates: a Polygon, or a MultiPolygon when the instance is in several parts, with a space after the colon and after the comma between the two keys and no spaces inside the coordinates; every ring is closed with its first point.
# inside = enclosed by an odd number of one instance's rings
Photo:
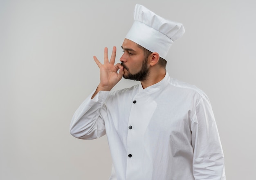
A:
{"type": "Polygon", "coordinates": [[[163,59],[171,44],[185,32],[181,23],[166,20],[140,4],[135,5],[133,15],[135,21],[125,38],[159,53],[163,59]]]}

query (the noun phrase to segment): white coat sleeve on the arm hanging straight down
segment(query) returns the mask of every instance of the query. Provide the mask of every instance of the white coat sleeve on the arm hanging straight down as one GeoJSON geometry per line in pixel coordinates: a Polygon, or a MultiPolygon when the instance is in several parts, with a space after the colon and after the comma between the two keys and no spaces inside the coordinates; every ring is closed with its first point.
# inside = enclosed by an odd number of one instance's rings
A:
{"type": "Polygon", "coordinates": [[[195,180],[225,180],[224,156],[207,96],[195,106],[191,124],[195,180]]]}

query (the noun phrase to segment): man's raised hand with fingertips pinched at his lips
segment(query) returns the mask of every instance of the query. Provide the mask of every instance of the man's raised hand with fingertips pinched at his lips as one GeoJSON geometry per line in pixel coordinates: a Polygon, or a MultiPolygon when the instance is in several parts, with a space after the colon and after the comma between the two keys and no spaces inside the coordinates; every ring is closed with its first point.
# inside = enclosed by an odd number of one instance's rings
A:
{"type": "Polygon", "coordinates": [[[104,64],[101,64],[96,56],[94,61],[100,69],[100,83],[92,99],[99,91],[110,91],[124,75],[124,67],[120,63],[115,64],[117,48],[114,46],[110,61],[108,60],[108,48],[104,49],[104,64]],[[117,71],[119,70],[119,73],[117,71]]]}

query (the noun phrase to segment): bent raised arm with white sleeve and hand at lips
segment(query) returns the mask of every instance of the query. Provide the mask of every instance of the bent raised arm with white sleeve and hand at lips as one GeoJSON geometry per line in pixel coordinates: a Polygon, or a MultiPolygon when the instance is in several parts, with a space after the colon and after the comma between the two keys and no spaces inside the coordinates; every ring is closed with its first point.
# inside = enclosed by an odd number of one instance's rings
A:
{"type": "Polygon", "coordinates": [[[109,91],[121,80],[124,75],[124,67],[120,63],[115,65],[116,47],[113,47],[110,61],[108,61],[108,49],[104,49],[104,64],[94,56],[94,61],[100,69],[100,83],[92,93],[76,110],[70,124],[72,136],[81,139],[99,138],[106,134],[104,118],[106,107],[104,102],[109,91]],[[119,73],[117,71],[119,70],[119,73]]]}

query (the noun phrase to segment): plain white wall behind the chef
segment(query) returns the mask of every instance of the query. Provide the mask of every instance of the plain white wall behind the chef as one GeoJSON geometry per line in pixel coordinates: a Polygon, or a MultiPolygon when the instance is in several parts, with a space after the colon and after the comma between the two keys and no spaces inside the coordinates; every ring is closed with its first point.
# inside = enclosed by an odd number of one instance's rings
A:
{"type": "Polygon", "coordinates": [[[254,0],[0,0],[1,180],[108,179],[106,137],[73,138],[69,124],[99,83],[92,56],[115,45],[118,62],[136,3],[184,24],[167,70],[209,96],[227,179],[255,179],[254,0]]]}

